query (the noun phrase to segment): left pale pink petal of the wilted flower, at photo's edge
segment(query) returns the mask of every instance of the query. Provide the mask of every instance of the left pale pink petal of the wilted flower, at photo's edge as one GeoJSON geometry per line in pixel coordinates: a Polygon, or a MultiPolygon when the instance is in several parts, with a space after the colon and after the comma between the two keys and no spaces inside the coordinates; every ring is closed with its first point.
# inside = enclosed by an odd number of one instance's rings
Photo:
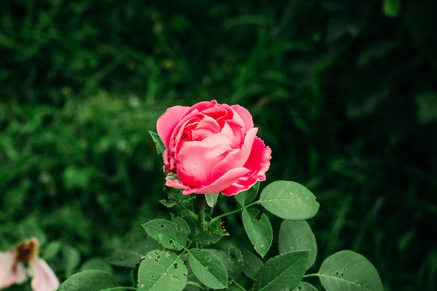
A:
{"type": "Polygon", "coordinates": [[[23,283],[27,278],[27,271],[22,264],[15,263],[15,253],[8,251],[0,253],[0,289],[6,288],[15,283],[23,283]]]}

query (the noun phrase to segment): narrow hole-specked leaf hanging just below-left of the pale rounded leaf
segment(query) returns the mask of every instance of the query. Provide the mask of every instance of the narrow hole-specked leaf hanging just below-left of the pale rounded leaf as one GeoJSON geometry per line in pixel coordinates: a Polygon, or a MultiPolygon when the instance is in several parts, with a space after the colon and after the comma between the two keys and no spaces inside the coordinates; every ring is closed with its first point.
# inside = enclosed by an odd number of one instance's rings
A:
{"type": "Polygon", "coordinates": [[[262,214],[260,219],[258,209],[243,209],[242,218],[244,230],[253,244],[253,248],[264,258],[273,241],[273,230],[267,215],[262,214]]]}

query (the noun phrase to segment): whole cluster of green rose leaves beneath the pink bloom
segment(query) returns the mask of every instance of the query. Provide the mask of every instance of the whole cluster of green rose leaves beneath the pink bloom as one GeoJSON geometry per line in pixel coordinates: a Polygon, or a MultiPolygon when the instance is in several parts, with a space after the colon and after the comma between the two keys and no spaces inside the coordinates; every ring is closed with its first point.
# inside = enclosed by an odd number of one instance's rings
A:
{"type": "MultiPolygon", "coordinates": [[[[305,275],[316,261],[316,238],[305,221],[315,216],[318,211],[316,197],[307,188],[295,182],[275,181],[267,185],[261,191],[259,199],[255,200],[258,188],[259,182],[248,191],[235,196],[241,206],[239,209],[216,217],[209,215],[205,223],[195,224],[194,228],[189,220],[175,215],[171,216],[171,220],[153,219],[142,224],[149,237],[162,248],[149,249],[135,266],[131,266],[134,267],[133,286],[127,289],[203,291],[229,290],[231,286],[235,286],[242,291],[249,288],[254,291],[316,290],[311,283],[302,279],[318,276],[327,291],[383,291],[375,267],[362,255],[353,251],[335,253],[323,261],[318,273],[305,275]],[[263,258],[272,246],[272,225],[266,214],[260,215],[260,210],[253,208],[258,204],[274,216],[283,218],[279,231],[279,254],[268,260],[263,258]],[[218,244],[226,235],[226,232],[218,232],[223,230],[222,218],[238,212],[241,212],[244,230],[259,257],[239,246],[230,245],[227,251],[210,247],[218,244]],[[205,235],[216,236],[216,239],[205,240],[205,235]]],[[[190,214],[186,216],[188,218],[195,216],[188,207],[185,207],[184,211],[190,214]]],[[[117,255],[113,259],[118,264],[126,264],[122,259],[117,260],[117,255]]],[[[131,264],[133,262],[131,259],[128,261],[131,264]]],[[[69,286],[75,285],[77,280],[86,285],[87,291],[122,288],[110,283],[106,287],[109,289],[102,289],[100,284],[106,281],[93,285],[100,276],[107,275],[84,271],[68,278],[59,290],[70,290],[69,286]]],[[[78,289],[71,290],[85,290],[82,287],[75,288],[78,289]]]]}

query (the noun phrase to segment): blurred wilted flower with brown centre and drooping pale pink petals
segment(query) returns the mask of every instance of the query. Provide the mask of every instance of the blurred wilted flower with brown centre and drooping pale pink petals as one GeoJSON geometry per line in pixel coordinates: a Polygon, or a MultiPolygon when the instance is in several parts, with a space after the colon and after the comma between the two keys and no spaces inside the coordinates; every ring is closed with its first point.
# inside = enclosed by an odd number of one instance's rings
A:
{"type": "Polygon", "coordinates": [[[27,276],[33,276],[32,290],[57,290],[58,278],[45,260],[38,258],[38,247],[38,241],[33,238],[6,253],[0,253],[0,289],[24,283],[27,276]]]}

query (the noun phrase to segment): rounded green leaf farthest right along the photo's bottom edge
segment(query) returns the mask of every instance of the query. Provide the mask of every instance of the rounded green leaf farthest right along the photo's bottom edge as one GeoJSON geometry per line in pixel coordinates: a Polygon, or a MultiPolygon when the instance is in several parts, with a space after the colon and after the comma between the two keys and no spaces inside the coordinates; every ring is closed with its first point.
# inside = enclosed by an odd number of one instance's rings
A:
{"type": "Polygon", "coordinates": [[[320,266],[320,282],[326,291],[383,291],[383,283],[373,264],[353,251],[330,255],[320,266]]]}

